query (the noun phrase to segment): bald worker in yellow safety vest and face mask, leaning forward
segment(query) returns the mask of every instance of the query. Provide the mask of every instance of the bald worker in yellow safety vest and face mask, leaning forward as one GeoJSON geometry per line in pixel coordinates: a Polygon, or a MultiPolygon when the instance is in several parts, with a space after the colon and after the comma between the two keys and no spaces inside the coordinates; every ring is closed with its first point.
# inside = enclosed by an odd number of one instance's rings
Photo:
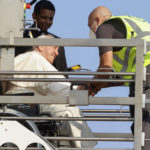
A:
{"type": "MultiPolygon", "coordinates": [[[[95,8],[89,15],[88,26],[90,28],[89,36],[97,39],[146,39],[150,41],[150,24],[141,18],[129,16],[112,16],[111,11],[103,6],[95,8]]],[[[100,64],[98,72],[135,72],[136,66],[136,47],[99,47],[100,64]]],[[[147,72],[150,72],[150,51],[147,51],[144,57],[144,66],[147,72]]],[[[94,78],[104,79],[108,75],[97,75],[94,78]]],[[[131,79],[132,76],[120,76],[120,78],[131,79]]],[[[121,84],[114,83],[91,83],[89,86],[89,94],[94,96],[101,88],[117,86],[121,84]]],[[[129,85],[129,83],[125,83],[129,85]]],[[[145,87],[149,87],[150,79],[147,77],[144,83],[145,87]]],[[[134,96],[134,84],[130,84],[130,95],[134,96]]],[[[149,88],[146,90],[146,98],[150,97],[149,88]]],[[[134,107],[130,107],[131,115],[134,117],[134,107]]],[[[145,131],[146,139],[150,139],[150,123],[149,123],[150,105],[146,104],[143,110],[143,131],[145,131]]],[[[134,129],[132,128],[134,132],[134,129]]],[[[143,150],[148,150],[150,141],[145,141],[143,150]]]]}

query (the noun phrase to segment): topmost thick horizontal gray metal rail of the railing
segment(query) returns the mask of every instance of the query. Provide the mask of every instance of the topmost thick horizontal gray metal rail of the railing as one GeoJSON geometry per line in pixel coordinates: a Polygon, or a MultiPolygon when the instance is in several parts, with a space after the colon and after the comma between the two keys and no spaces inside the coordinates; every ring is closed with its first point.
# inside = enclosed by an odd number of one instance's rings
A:
{"type": "Polygon", "coordinates": [[[14,38],[13,43],[10,38],[0,38],[1,46],[70,46],[70,47],[98,47],[98,46],[141,46],[141,39],[37,39],[37,38],[14,38]]]}

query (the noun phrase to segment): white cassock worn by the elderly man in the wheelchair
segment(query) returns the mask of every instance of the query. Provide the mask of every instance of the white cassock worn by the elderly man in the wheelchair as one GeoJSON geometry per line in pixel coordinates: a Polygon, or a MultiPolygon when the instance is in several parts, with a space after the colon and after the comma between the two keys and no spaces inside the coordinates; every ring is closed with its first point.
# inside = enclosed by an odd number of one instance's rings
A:
{"type": "MultiPolygon", "coordinates": [[[[20,54],[15,58],[15,71],[58,71],[42,55],[36,51],[20,54]]],[[[17,78],[65,78],[63,75],[15,75],[17,78]]],[[[11,82],[6,94],[23,91],[33,91],[35,95],[59,95],[68,96],[70,90],[69,82],[11,82]],[[12,84],[13,83],[13,84],[12,84]],[[16,88],[17,87],[17,88],[16,88]]],[[[40,105],[40,112],[50,112],[53,117],[81,117],[82,113],[78,107],[65,105],[40,105]]],[[[92,131],[85,121],[64,122],[67,133],[73,137],[93,137],[92,131]]],[[[95,141],[74,141],[76,147],[91,148],[96,145],[95,141]]]]}

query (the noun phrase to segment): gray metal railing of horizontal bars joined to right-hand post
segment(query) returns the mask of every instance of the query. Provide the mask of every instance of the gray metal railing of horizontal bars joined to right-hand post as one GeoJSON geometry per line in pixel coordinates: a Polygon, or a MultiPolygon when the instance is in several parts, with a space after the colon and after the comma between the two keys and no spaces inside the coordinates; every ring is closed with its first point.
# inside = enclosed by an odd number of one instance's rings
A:
{"type": "MultiPolygon", "coordinates": [[[[143,87],[143,80],[144,80],[144,67],[143,67],[143,59],[144,59],[144,48],[146,48],[146,42],[144,40],[104,40],[104,39],[98,39],[98,40],[90,40],[90,39],[23,39],[23,38],[14,38],[14,44],[9,43],[9,39],[2,38],[0,39],[0,44],[2,46],[29,46],[29,45],[59,45],[59,46],[136,46],[137,47],[137,55],[136,60],[136,73],[96,73],[96,72],[14,72],[12,69],[9,71],[5,71],[1,69],[0,72],[0,80],[1,81],[41,81],[41,82],[135,82],[135,97],[87,97],[84,103],[82,105],[135,105],[135,118],[130,118],[129,116],[114,116],[114,115],[99,115],[93,116],[89,115],[88,117],[85,115],[83,118],[61,118],[61,117],[21,117],[19,119],[27,119],[27,120],[86,120],[86,121],[135,121],[135,136],[133,137],[126,137],[122,138],[118,136],[118,138],[112,137],[115,134],[108,134],[107,137],[102,138],[99,137],[99,134],[97,133],[97,137],[91,139],[91,138],[79,138],[79,137],[70,137],[70,138],[63,138],[63,137],[46,137],[46,139],[51,140],[97,140],[97,141],[134,141],[134,150],[140,150],[142,145],[142,107],[143,107],[143,93],[142,93],[142,87],[143,87]],[[75,75],[77,77],[69,78],[69,79],[17,79],[13,78],[12,76],[14,74],[69,74],[69,75],[75,75]],[[135,80],[117,80],[117,79],[92,79],[91,75],[94,74],[111,74],[111,75],[132,75],[135,76],[135,80]],[[87,75],[85,78],[80,78],[78,75],[87,75]],[[111,136],[111,137],[109,137],[111,136]]],[[[11,51],[12,49],[9,49],[11,51]]],[[[1,62],[3,59],[1,59],[1,62]]],[[[75,91],[72,91],[75,92],[75,91]]],[[[82,91],[81,95],[82,95],[82,91]]],[[[73,97],[75,98],[76,95],[78,95],[78,91],[73,94],[73,97]]],[[[78,97],[77,97],[78,98],[78,97]]],[[[84,98],[84,96],[83,96],[84,98]]],[[[0,96],[0,103],[3,104],[33,104],[33,103],[45,103],[45,104],[69,104],[70,97],[59,97],[59,96],[48,96],[48,97],[42,97],[42,96],[0,96]],[[41,101],[42,99],[42,101],[41,101]]],[[[71,103],[72,104],[72,103],[71,103]]],[[[75,103],[73,102],[73,105],[81,105],[81,103],[75,103]]],[[[17,119],[16,117],[1,117],[1,119],[17,119]]],[[[122,134],[124,135],[124,134],[122,134]]],[[[116,136],[115,136],[116,137],[116,136]]],[[[102,149],[101,149],[102,150],[102,149]]],[[[120,149],[121,150],[121,149],[120,149]]]]}

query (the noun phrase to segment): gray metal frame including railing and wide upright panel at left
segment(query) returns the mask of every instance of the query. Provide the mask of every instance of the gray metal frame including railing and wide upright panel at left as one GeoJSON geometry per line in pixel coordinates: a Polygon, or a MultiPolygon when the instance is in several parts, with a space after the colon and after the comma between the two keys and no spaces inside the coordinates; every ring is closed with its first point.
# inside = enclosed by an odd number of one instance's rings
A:
{"type": "MultiPolygon", "coordinates": [[[[105,115],[90,115],[85,114],[82,118],[62,118],[62,117],[0,117],[0,119],[27,119],[27,120],[87,120],[87,121],[135,121],[135,135],[120,134],[117,133],[94,133],[95,138],[79,138],[79,137],[45,137],[45,139],[51,140],[96,140],[96,141],[134,141],[134,150],[141,150],[142,146],[142,107],[145,105],[144,96],[142,93],[143,80],[145,80],[143,59],[146,48],[150,46],[146,45],[146,41],[138,39],[24,39],[22,37],[23,32],[23,20],[24,20],[24,0],[1,0],[0,1],[0,81],[3,83],[3,89],[5,90],[5,83],[7,81],[41,81],[41,82],[135,82],[135,97],[88,97],[87,91],[71,91],[69,96],[0,96],[0,104],[70,104],[70,105],[134,105],[135,106],[135,118],[129,116],[129,111],[120,110],[103,110],[105,115]],[[9,3],[9,5],[8,5],[9,3]],[[7,7],[7,9],[6,9],[7,7]],[[15,18],[14,18],[15,16],[15,18]],[[12,19],[13,18],[13,19],[12,19]],[[136,73],[112,73],[112,72],[14,72],[14,49],[16,46],[37,46],[37,45],[58,45],[68,47],[98,47],[98,46],[136,46],[137,55],[136,60],[136,73]],[[68,74],[75,75],[69,79],[17,79],[14,78],[14,74],[68,74]],[[132,75],[135,79],[123,80],[123,79],[92,79],[91,76],[96,74],[110,74],[110,75],[132,75]],[[78,77],[80,76],[80,78],[78,77]],[[81,78],[81,75],[87,77],[81,78]],[[80,96],[79,96],[80,93],[80,96]],[[80,102],[82,98],[82,103],[80,102]],[[41,101],[42,99],[42,101],[41,101]],[[79,100],[80,99],[80,100],[79,100]],[[83,101],[84,100],[84,101],[83,101]],[[115,114],[111,114],[114,113],[115,114]],[[127,114],[126,114],[127,113],[127,114]]],[[[150,100],[146,100],[150,103],[150,100]]],[[[85,112],[83,110],[83,112],[85,112]]],[[[95,113],[98,110],[86,110],[88,113],[95,113]]],[[[0,147],[1,149],[1,147],[0,147]]],[[[2,148],[3,149],[3,148],[2,148]]],[[[7,148],[5,148],[7,149],[7,148]]],[[[15,148],[8,148],[15,149],[15,148]]],[[[38,148],[36,148],[38,149],[38,148]]],[[[81,150],[80,148],[68,148],[68,150],[81,150]]],[[[66,148],[59,148],[59,150],[66,150],[66,148]]],[[[85,150],[89,150],[85,148],[85,150]]],[[[90,148],[91,150],[91,148],[90,148]]],[[[103,148],[97,148],[97,150],[104,150],[103,148]]],[[[114,149],[105,149],[114,150],[114,149]]],[[[116,149],[115,150],[123,150],[116,149]]],[[[131,149],[124,149],[131,150],[131,149]]]]}

